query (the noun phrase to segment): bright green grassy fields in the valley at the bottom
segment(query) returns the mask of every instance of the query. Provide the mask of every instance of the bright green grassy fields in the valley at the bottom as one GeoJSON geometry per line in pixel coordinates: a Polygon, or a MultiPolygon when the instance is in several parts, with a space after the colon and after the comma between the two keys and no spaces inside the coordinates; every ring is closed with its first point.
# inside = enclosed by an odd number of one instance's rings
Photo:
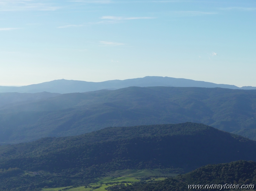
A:
{"type": "MultiPolygon", "coordinates": [[[[90,190],[106,191],[105,190],[106,187],[117,185],[117,184],[119,184],[123,181],[129,182],[129,183],[125,183],[125,184],[131,184],[133,182],[139,182],[140,181],[139,178],[141,178],[141,177],[122,177],[122,176],[120,176],[120,177],[102,177],[102,178],[98,178],[98,181],[96,183],[91,183],[87,187],[80,186],[80,187],[76,187],[76,188],[70,188],[70,189],[67,189],[67,190],[68,191],[90,191],[90,190]],[[119,183],[111,184],[113,182],[119,182],[119,183]]],[[[164,177],[160,177],[160,178],[150,178],[149,180],[159,181],[159,180],[164,180],[164,179],[165,179],[164,177]]],[[[149,181],[149,180],[147,180],[147,181],[149,181]]],[[[59,191],[59,190],[62,190],[64,188],[69,188],[69,187],[43,188],[42,191],[59,191]]]]}

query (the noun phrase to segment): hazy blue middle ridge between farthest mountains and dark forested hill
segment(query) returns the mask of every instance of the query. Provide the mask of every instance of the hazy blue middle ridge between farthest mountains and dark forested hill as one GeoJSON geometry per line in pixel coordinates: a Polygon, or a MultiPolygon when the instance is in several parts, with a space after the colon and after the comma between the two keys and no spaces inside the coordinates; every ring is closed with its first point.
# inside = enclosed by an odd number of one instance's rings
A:
{"type": "Polygon", "coordinates": [[[81,135],[110,126],[187,121],[228,132],[255,129],[256,90],[129,87],[12,104],[0,108],[0,143],[81,135]]]}

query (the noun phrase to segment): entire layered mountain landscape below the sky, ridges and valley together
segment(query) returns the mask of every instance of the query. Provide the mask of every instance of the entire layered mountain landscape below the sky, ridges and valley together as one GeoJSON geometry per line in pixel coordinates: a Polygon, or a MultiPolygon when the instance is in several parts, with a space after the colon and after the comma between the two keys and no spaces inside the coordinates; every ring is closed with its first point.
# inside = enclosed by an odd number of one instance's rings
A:
{"type": "Polygon", "coordinates": [[[3,191],[254,184],[253,140],[256,87],[169,77],[0,87],[3,191]]]}

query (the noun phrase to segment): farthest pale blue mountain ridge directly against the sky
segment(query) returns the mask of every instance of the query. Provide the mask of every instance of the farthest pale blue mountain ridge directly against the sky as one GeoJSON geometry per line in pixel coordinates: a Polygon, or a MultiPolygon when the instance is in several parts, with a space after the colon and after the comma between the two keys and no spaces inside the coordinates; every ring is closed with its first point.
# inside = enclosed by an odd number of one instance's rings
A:
{"type": "Polygon", "coordinates": [[[205,88],[228,88],[228,89],[244,89],[252,90],[256,87],[243,86],[237,87],[228,84],[214,84],[211,82],[195,81],[184,78],[174,77],[158,77],[146,76],[142,78],[126,79],[126,80],[108,80],[104,82],[86,82],[78,80],[53,80],[40,84],[32,84],[21,87],[0,86],[0,92],[19,92],[19,93],[76,93],[76,92],[91,92],[102,89],[120,89],[130,86],[137,87],[152,87],[152,86],[168,86],[168,87],[205,87],[205,88]]]}

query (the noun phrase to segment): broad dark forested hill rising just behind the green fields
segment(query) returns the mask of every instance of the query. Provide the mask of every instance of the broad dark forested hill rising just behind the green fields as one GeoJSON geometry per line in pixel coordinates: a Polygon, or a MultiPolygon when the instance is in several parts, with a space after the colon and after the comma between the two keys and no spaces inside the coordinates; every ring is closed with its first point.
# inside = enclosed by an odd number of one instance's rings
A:
{"type": "Polygon", "coordinates": [[[115,170],[182,168],[188,172],[207,164],[256,161],[255,150],[255,141],[197,123],[110,127],[0,146],[0,169],[44,172],[9,176],[6,181],[13,185],[22,181],[33,187],[64,187],[83,185],[115,170]]]}

